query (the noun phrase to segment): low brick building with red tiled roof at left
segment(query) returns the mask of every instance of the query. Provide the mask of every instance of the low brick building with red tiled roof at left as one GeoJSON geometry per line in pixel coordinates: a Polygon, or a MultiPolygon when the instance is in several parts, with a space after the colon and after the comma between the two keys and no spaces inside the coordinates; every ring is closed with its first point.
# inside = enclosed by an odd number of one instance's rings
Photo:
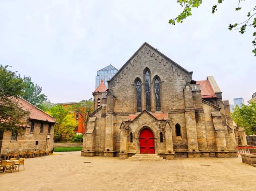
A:
{"type": "Polygon", "coordinates": [[[11,131],[0,132],[0,155],[24,150],[52,150],[54,125],[56,119],[30,102],[18,97],[19,107],[28,111],[23,132],[12,134],[11,131]]]}

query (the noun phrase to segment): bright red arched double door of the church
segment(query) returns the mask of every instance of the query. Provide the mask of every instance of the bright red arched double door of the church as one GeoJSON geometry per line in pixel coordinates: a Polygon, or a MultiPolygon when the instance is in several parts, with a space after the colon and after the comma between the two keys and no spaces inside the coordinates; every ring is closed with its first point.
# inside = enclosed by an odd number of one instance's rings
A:
{"type": "Polygon", "coordinates": [[[153,132],[145,128],[140,132],[140,153],[141,154],[154,154],[154,134],[153,132]]]}

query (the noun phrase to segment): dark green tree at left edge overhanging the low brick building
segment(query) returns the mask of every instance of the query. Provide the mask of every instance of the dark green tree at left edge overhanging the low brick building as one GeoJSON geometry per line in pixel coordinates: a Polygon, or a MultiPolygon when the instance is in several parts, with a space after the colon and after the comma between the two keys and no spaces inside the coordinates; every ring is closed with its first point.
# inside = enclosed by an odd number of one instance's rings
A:
{"type": "Polygon", "coordinates": [[[22,95],[25,84],[16,72],[0,65],[0,132],[20,132],[26,124],[28,112],[19,107],[18,95],[22,95]]]}

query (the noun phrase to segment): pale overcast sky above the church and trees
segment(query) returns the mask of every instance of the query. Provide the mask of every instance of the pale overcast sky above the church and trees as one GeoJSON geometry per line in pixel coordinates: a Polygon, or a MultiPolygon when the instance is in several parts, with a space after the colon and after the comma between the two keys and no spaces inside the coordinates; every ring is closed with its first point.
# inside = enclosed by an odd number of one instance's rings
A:
{"type": "Polygon", "coordinates": [[[172,26],[182,8],[176,0],[0,0],[0,64],[30,76],[48,99],[78,102],[92,97],[97,70],[120,69],[144,43],[193,71],[194,80],[213,75],[223,100],[244,101],[256,92],[252,29],[230,32],[255,0],[204,0],[192,17],[172,26]]]}

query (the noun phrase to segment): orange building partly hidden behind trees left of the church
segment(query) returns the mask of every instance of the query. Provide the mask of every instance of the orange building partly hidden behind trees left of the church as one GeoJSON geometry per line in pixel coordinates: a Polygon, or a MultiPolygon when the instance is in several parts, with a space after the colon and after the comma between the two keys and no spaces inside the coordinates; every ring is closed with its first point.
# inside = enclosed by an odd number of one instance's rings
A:
{"type": "MultiPolygon", "coordinates": [[[[57,104],[66,108],[66,107],[72,106],[76,103],[77,102],[67,102],[67,103],[57,103],[57,104]]],[[[86,130],[86,124],[83,119],[86,118],[86,116],[82,116],[82,114],[79,112],[74,112],[72,114],[74,114],[74,118],[75,118],[76,124],[77,124],[76,128],[74,129],[74,132],[76,134],[83,134],[86,130]]]]}

